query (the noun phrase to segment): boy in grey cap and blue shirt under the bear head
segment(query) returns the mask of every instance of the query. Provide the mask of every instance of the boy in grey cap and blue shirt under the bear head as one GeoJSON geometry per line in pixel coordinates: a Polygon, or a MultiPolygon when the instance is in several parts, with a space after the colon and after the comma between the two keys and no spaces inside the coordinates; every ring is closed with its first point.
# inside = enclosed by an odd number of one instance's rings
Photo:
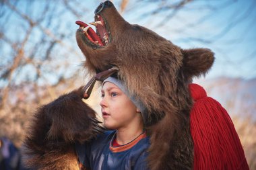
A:
{"type": "Polygon", "coordinates": [[[76,144],[79,162],[88,169],[148,169],[150,140],[143,130],[141,102],[119,79],[102,83],[100,102],[104,126],[109,131],[86,144],[76,144]]]}

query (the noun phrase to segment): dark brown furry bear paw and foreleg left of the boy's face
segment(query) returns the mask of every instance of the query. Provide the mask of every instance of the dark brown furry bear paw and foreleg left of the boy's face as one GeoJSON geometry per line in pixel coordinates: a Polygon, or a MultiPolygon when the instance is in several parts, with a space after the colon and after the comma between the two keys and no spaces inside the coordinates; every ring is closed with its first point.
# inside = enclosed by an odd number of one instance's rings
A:
{"type": "Polygon", "coordinates": [[[74,143],[102,130],[96,113],[82,101],[81,88],[42,105],[24,141],[24,161],[32,169],[79,169],[74,143]]]}

